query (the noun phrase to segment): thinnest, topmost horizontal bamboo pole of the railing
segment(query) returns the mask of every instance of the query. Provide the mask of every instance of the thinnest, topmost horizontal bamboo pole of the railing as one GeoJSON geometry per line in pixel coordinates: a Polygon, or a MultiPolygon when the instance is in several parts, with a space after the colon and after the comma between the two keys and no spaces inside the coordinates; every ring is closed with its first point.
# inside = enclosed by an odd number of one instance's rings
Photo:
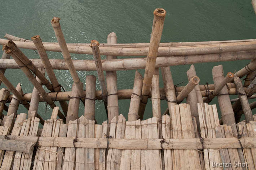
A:
{"type": "MultiPolygon", "coordinates": [[[[111,33],[110,33],[111,34],[111,33]]],[[[32,42],[31,40],[19,38],[16,36],[12,36],[10,34],[5,34],[4,38],[13,41],[20,41],[20,42],[32,42]]],[[[227,40],[227,41],[209,41],[209,42],[168,42],[168,43],[160,43],[159,47],[176,47],[176,46],[191,46],[191,45],[209,45],[209,44],[216,44],[216,43],[234,43],[234,42],[252,42],[255,39],[248,39],[248,40],[227,40]]],[[[58,42],[43,42],[43,44],[58,44],[58,42]]],[[[67,43],[67,45],[74,45],[74,46],[90,46],[90,43],[67,43]]],[[[101,43],[100,47],[122,47],[122,48],[141,48],[141,47],[149,47],[149,43],[101,43]]]]}

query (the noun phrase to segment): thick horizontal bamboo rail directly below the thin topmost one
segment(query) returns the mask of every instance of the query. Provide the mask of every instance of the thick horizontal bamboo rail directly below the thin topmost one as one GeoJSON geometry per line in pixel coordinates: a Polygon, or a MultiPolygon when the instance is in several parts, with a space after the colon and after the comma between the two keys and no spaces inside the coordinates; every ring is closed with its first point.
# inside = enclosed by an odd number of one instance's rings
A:
{"type": "MultiPolygon", "coordinates": [[[[7,44],[9,40],[0,39],[0,44],[7,44]]],[[[14,41],[19,48],[36,49],[32,42],[14,41]]],[[[44,44],[46,51],[61,52],[58,44],[44,44]]],[[[92,50],[88,46],[67,45],[69,53],[92,54],[92,50]]],[[[148,47],[143,48],[122,48],[122,47],[100,47],[100,55],[118,55],[118,56],[146,56],[148,47]]],[[[158,56],[173,55],[200,55],[213,54],[234,51],[252,51],[256,49],[256,41],[252,42],[234,42],[234,43],[216,43],[212,45],[198,46],[180,46],[180,47],[159,47],[158,56]]]]}

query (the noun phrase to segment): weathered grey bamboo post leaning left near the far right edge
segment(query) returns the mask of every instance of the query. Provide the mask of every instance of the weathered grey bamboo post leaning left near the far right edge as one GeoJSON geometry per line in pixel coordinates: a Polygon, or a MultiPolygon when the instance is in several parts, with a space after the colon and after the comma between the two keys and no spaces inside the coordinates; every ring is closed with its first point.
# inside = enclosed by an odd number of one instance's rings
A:
{"type": "Polygon", "coordinates": [[[249,102],[246,96],[246,93],[244,91],[242,82],[240,80],[239,77],[235,77],[234,78],[234,83],[236,85],[236,89],[238,92],[238,97],[240,99],[241,105],[242,105],[242,109],[243,109],[243,113],[244,113],[244,117],[245,117],[245,121],[246,123],[250,123],[250,121],[254,121],[253,117],[252,117],[252,110],[249,106],[249,102]]]}

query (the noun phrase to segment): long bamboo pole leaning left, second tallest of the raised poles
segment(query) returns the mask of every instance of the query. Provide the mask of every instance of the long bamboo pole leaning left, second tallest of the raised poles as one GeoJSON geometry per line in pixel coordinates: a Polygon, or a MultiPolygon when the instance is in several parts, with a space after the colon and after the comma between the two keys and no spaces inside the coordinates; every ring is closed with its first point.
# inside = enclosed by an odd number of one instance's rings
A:
{"type": "MultiPolygon", "coordinates": [[[[63,54],[63,57],[66,61],[66,65],[67,65],[67,67],[70,71],[71,77],[72,77],[74,83],[76,83],[76,86],[78,88],[79,96],[84,97],[83,85],[82,85],[82,82],[80,81],[80,79],[79,79],[79,77],[76,73],[76,68],[74,67],[74,64],[72,62],[70,53],[68,51],[68,47],[66,45],[65,38],[64,38],[62,30],[60,28],[59,20],[60,20],[60,18],[57,18],[57,17],[54,17],[52,19],[52,22],[51,22],[52,23],[52,28],[55,32],[56,38],[57,38],[58,43],[59,43],[60,50],[61,50],[61,52],[63,54]]],[[[47,51],[45,46],[44,46],[44,48],[47,51]]],[[[82,99],[82,101],[84,101],[84,99],[82,99]]]]}

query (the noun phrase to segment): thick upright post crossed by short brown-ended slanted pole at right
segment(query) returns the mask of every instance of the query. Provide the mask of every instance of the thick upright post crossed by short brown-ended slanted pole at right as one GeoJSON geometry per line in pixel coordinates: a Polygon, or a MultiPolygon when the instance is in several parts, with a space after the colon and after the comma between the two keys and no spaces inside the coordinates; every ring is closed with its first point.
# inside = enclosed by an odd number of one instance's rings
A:
{"type": "MultiPolygon", "coordinates": [[[[213,67],[212,77],[213,77],[215,87],[218,87],[218,85],[224,79],[222,65],[213,67]]],[[[228,89],[226,86],[224,86],[222,88],[222,90],[220,91],[220,93],[218,94],[218,103],[220,106],[220,112],[221,112],[223,124],[225,124],[225,125],[235,124],[236,121],[234,118],[234,112],[232,109],[232,105],[231,105],[230,98],[228,95],[228,89]]]]}

